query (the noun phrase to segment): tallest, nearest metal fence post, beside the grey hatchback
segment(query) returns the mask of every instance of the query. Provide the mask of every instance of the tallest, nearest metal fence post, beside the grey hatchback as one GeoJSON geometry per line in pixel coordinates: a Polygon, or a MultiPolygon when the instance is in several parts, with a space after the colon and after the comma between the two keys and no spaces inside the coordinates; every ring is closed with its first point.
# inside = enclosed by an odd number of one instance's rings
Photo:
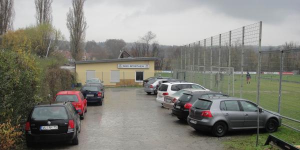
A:
{"type": "MultiPolygon", "coordinates": [[[[258,41],[258,64],[257,64],[257,93],[256,103],[259,105],[259,88],[260,88],[260,67],[261,67],[261,28],[262,22],[259,22],[259,41],[258,41]]],[[[257,133],[256,133],[256,146],[258,145],[258,134],[259,134],[259,108],[257,106],[257,133]]]]}

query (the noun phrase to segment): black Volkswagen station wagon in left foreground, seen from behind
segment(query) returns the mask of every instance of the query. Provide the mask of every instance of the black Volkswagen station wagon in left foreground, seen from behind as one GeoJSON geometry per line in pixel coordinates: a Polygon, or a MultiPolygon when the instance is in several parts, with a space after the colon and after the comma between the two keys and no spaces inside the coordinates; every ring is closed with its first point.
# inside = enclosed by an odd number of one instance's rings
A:
{"type": "Polygon", "coordinates": [[[79,114],[69,101],[40,103],[31,109],[25,123],[27,146],[35,142],[71,141],[78,144],[79,114]]]}

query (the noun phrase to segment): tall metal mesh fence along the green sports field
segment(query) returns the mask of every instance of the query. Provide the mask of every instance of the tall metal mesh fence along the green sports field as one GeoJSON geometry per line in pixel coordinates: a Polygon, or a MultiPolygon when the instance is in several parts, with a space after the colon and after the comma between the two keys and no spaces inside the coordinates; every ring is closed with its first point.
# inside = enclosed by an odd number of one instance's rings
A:
{"type": "MultiPolygon", "coordinates": [[[[260,21],[181,46],[172,76],[299,120],[300,50],[262,51],[261,29],[260,21]]],[[[300,129],[300,123],[283,123],[300,129]]]]}

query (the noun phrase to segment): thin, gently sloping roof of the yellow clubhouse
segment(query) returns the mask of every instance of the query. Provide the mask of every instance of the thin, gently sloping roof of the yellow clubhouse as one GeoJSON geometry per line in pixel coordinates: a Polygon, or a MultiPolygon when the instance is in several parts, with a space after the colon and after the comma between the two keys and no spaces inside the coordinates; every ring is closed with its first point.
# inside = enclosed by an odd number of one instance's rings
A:
{"type": "Polygon", "coordinates": [[[98,62],[121,62],[121,61],[139,61],[139,60],[158,60],[159,57],[136,57],[136,58],[120,58],[120,59],[102,59],[102,60],[86,60],[75,61],[76,64],[80,63],[98,63],[98,62]]]}

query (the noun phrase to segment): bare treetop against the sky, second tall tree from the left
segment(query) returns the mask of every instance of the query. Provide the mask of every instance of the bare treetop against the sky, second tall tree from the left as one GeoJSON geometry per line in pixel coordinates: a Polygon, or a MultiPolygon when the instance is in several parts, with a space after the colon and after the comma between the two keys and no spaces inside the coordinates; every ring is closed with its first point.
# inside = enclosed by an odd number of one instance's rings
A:
{"type": "Polygon", "coordinates": [[[35,0],[36,22],[37,24],[51,23],[52,21],[52,0],[35,0]]]}

